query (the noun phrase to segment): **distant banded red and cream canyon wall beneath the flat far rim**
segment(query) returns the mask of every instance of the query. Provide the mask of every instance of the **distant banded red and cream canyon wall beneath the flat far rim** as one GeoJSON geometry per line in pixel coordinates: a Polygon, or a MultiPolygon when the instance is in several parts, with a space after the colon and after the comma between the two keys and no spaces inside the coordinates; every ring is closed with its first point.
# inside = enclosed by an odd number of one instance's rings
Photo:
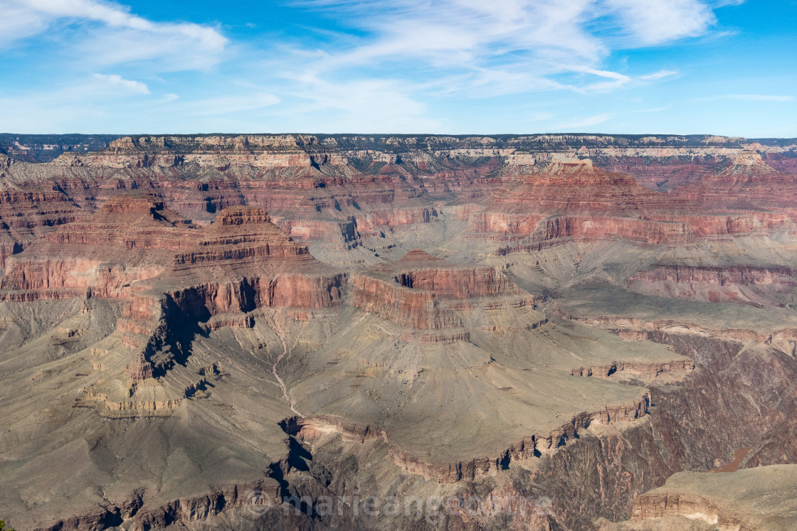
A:
{"type": "MultiPolygon", "coordinates": [[[[386,231],[438,221],[441,205],[461,201],[494,204],[470,221],[470,232],[482,235],[539,232],[537,240],[551,240],[551,229],[538,226],[544,218],[589,213],[599,217],[593,225],[574,219],[573,233],[561,237],[677,243],[750,232],[723,228],[724,222],[705,216],[692,220],[702,215],[696,204],[786,208],[788,179],[761,156],[785,157],[794,149],[723,137],[124,137],[104,150],[67,152],[46,164],[8,159],[0,175],[6,191],[0,217],[8,225],[0,257],[130,189],[151,190],[196,221],[211,221],[232,206],[257,206],[295,238],[335,252],[386,231]],[[678,165],[685,166],[684,175],[709,181],[677,181],[688,185],[674,193],[680,199],[634,181],[657,189],[661,183],[651,172],[675,175],[678,165]],[[780,190],[779,197],[768,198],[771,190],[780,190]],[[14,227],[20,213],[25,226],[14,227]]],[[[540,242],[520,247],[533,244],[540,242]]]]}

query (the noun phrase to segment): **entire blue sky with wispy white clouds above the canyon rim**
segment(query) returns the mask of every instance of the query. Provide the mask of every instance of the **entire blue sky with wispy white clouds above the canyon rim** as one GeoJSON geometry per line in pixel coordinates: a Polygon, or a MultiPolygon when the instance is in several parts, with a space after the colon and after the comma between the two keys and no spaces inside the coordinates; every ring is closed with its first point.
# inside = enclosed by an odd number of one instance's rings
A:
{"type": "Polygon", "coordinates": [[[797,137],[797,0],[0,0],[0,132],[797,137]]]}

